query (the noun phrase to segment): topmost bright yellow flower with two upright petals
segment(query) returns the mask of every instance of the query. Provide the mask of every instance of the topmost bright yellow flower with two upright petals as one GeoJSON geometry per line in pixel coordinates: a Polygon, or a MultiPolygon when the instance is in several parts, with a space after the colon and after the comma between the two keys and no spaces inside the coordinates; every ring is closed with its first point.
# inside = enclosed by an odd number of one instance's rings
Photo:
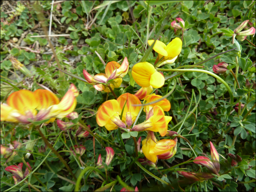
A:
{"type": "MultiPolygon", "coordinates": [[[[148,45],[152,45],[155,40],[148,40],[148,45]]],[[[171,64],[177,59],[178,55],[182,49],[182,41],[180,38],[174,38],[168,45],[165,45],[163,42],[156,40],[155,45],[153,47],[154,51],[158,53],[157,61],[159,61],[162,57],[163,60],[156,65],[159,67],[166,63],[171,64]]]]}

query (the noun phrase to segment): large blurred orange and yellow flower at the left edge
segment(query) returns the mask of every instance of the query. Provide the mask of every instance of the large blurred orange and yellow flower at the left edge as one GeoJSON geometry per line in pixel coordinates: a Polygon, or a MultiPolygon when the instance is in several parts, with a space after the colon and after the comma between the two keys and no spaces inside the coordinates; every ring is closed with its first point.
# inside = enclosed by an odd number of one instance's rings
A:
{"type": "Polygon", "coordinates": [[[71,84],[71,88],[61,101],[48,90],[15,91],[7,98],[7,104],[1,104],[1,121],[27,124],[50,118],[46,122],[50,123],[71,113],[76,107],[78,95],[79,92],[74,84],[71,84]]]}

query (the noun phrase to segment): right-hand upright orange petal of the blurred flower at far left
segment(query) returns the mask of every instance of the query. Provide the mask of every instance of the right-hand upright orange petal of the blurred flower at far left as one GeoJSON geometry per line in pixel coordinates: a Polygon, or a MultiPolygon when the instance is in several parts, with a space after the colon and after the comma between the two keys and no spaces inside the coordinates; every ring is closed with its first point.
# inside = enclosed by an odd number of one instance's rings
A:
{"type": "Polygon", "coordinates": [[[45,89],[35,90],[34,95],[38,101],[38,110],[47,109],[49,106],[57,105],[59,103],[59,98],[52,92],[45,89]]]}

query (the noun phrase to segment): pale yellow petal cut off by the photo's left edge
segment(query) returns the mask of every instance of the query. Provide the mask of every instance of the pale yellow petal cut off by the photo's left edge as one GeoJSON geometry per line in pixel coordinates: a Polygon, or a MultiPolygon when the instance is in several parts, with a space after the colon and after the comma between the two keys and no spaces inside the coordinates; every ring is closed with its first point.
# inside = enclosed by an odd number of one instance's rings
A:
{"type": "Polygon", "coordinates": [[[11,122],[18,122],[18,120],[12,115],[16,114],[16,116],[19,116],[18,110],[4,104],[1,105],[1,113],[0,113],[0,121],[11,121],[11,122]]]}

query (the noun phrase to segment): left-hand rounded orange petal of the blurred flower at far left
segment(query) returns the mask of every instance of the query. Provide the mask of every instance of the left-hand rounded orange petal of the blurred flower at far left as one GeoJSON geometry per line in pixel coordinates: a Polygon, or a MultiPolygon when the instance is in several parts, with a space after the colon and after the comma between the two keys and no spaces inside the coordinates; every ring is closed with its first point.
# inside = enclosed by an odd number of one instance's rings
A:
{"type": "Polygon", "coordinates": [[[19,90],[15,91],[6,100],[7,105],[19,111],[19,113],[25,115],[26,110],[31,110],[34,114],[34,110],[38,106],[37,98],[32,91],[19,90]]]}

